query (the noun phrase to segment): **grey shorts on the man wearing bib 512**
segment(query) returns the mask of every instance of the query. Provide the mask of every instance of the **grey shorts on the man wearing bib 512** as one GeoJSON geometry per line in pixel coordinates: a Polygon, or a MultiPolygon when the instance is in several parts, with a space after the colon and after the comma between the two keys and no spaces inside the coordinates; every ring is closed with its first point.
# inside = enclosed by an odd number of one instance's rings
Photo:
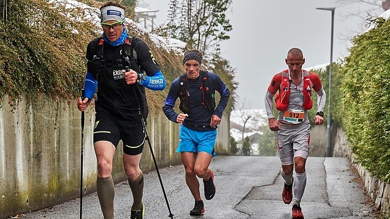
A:
{"type": "Polygon", "coordinates": [[[307,159],[310,143],[310,123],[306,119],[299,124],[280,122],[281,130],[276,133],[279,158],[282,165],[293,164],[295,156],[307,159]],[[296,153],[296,151],[302,151],[296,153]]]}

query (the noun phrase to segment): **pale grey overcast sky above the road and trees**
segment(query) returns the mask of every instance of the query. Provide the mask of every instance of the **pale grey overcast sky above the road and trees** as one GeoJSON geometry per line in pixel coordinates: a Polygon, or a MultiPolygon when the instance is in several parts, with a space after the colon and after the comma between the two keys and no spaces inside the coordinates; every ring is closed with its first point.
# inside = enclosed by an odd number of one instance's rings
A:
{"type": "MultiPolygon", "coordinates": [[[[156,9],[154,23],[167,20],[169,0],[140,0],[140,6],[156,9]]],[[[348,36],[364,30],[364,20],[345,16],[364,6],[339,6],[332,0],[233,0],[227,18],[233,27],[230,39],[221,42],[222,56],[236,69],[238,108],[264,108],[267,87],[276,73],[287,69],[290,48],[303,51],[303,69],[330,62],[332,12],[336,7],[333,61],[348,55],[348,36]],[[359,7],[359,8],[357,8],[359,7]]]]}

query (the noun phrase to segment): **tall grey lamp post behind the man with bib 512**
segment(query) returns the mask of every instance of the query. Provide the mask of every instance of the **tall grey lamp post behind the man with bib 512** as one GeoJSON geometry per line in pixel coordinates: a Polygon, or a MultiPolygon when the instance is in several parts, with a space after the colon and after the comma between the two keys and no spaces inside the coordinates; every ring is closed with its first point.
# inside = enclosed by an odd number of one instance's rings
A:
{"type": "Polygon", "coordinates": [[[335,20],[336,8],[316,8],[318,10],[332,11],[332,33],[330,34],[330,63],[329,63],[329,89],[328,94],[328,117],[327,117],[327,141],[326,141],[326,157],[332,157],[332,150],[330,147],[330,83],[332,82],[332,62],[333,62],[333,26],[335,20]]]}

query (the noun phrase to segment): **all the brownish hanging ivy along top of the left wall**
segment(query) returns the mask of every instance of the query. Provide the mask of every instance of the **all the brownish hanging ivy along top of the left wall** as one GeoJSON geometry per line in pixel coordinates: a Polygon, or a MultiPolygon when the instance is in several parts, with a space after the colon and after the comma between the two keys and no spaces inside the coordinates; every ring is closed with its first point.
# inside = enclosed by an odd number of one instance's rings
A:
{"type": "MultiPolygon", "coordinates": [[[[48,3],[44,0],[5,0],[0,4],[0,32],[3,33],[0,36],[0,97],[9,95],[11,105],[23,95],[30,100],[40,94],[68,100],[80,96],[86,74],[86,47],[102,30],[84,18],[84,9],[69,8],[65,4],[66,1],[48,3]]],[[[89,1],[89,5],[96,8],[101,4],[89,1]]],[[[167,87],[183,74],[183,54],[158,47],[148,34],[127,28],[131,35],[149,45],[167,87]]],[[[216,60],[219,60],[218,67],[212,70],[220,73],[234,94],[235,70],[221,57],[216,60]]],[[[168,90],[146,91],[150,112],[161,111],[168,90]]],[[[233,101],[228,111],[232,104],[233,101]]]]}

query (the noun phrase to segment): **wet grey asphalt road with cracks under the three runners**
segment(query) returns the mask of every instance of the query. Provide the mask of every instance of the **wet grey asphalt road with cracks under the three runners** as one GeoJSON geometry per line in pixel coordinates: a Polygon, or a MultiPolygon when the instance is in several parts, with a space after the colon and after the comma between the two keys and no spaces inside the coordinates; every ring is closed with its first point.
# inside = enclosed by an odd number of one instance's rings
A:
{"type": "MultiPolygon", "coordinates": [[[[291,218],[292,204],[281,198],[283,179],[278,157],[217,156],[211,169],[217,193],[205,200],[205,213],[190,216],[194,200],[185,184],[182,165],[160,169],[173,218],[291,218]]],[[[301,207],[305,218],[377,218],[364,187],[346,158],[309,157],[301,207]]],[[[145,218],[170,218],[157,172],[145,174],[145,218]]],[[[201,193],[203,197],[203,183],[201,193]]],[[[115,219],[130,218],[132,195],[127,182],[115,185],[115,219]]],[[[103,218],[96,193],[83,197],[82,218],[103,218]]],[[[19,218],[80,218],[80,199],[19,218]]]]}

